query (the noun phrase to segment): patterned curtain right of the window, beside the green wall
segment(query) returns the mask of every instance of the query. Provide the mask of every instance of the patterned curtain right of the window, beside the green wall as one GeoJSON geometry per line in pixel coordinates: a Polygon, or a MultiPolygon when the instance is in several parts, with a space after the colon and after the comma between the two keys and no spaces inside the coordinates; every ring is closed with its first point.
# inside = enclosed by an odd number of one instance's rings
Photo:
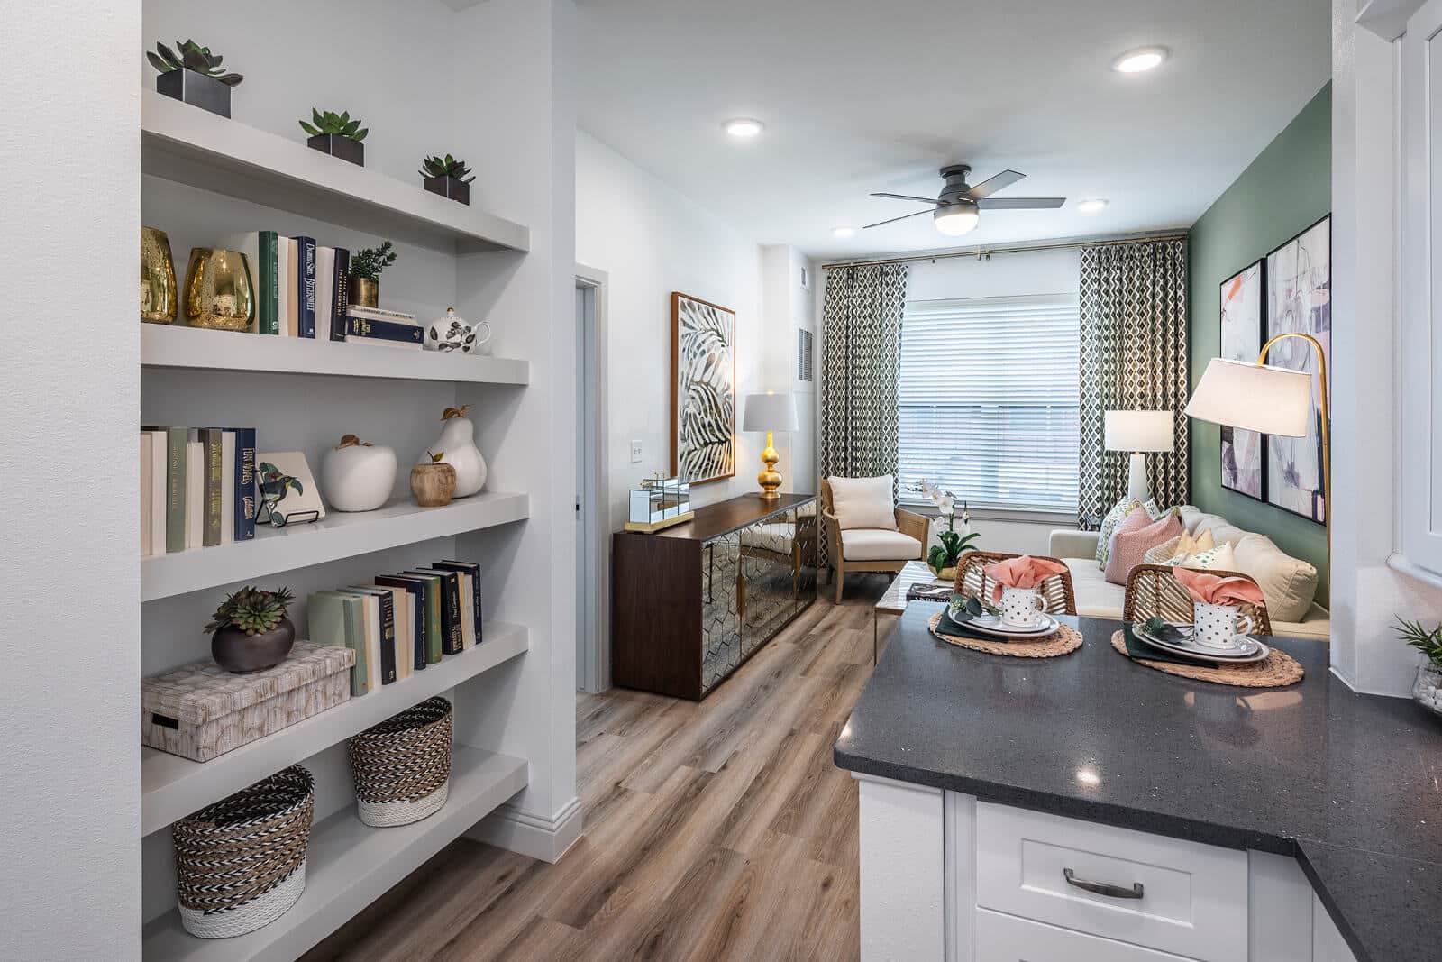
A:
{"type": "Polygon", "coordinates": [[[1126,451],[1102,446],[1105,411],[1171,411],[1171,453],[1146,456],[1156,503],[1185,505],[1187,241],[1082,248],[1082,449],[1077,522],[1094,531],[1126,493],[1126,451]]]}

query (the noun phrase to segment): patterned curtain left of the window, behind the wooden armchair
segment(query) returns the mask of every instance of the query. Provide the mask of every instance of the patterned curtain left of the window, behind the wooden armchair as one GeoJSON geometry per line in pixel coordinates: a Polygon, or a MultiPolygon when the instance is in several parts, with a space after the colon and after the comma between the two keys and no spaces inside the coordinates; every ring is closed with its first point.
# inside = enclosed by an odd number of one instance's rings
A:
{"type": "MultiPolygon", "coordinates": [[[[820,343],[820,476],[897,473],[897,381],[906,264],[826,271],[820,343]]],[[[825,538],[825,526],[822,528],[825,538]]],[[[820,545],[826,558],[826,545],[820,545]]]]}

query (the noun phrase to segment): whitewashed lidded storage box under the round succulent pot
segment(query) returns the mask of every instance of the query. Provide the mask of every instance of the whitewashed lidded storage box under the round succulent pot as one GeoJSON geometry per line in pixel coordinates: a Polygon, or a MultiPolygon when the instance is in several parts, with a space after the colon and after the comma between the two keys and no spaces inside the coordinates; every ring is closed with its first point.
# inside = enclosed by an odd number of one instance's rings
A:
{"type": "Polygon", "coordinates": [[[296,642],[275,668],[232,675],[206,659],[140,682],[140,741],[193,762],[264,738],[350,698],[349,648],[296,642]]]}

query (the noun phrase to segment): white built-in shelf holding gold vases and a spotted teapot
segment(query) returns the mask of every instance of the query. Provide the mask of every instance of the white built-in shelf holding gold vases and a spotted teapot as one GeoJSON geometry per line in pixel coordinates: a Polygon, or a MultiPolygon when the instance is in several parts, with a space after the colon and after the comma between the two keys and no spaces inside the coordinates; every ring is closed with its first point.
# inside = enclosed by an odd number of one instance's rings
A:
{"type": "Polygon", "coordinates": [[[460,384],[528,384],[531,362],[519,358],[477,358],[437,350],[273,337],[234,330],[205,330],[179,325],[144,325],[140,363],[146,368],[192,371],[261,371],[268,374],[326,374],[342,378],[397,378],[460,384]]]}

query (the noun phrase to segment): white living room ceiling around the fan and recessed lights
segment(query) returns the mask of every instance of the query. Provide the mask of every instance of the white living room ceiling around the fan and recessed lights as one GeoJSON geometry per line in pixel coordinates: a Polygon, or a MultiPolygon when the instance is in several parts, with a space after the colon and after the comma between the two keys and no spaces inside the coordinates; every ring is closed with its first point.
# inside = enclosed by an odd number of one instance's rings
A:
{"type": "Polygon", "coordinates": [[[1327,82],[1330,0],[578,0],[580,125],[761,244],[955,247],[920,209],[945,163],[998,196],[960,242],[1185,226],[1327,82]],[[1172,56],[1113,72],[1128,49],[1172,56]],[[730,117],[766,133],[737,141],[730,117]],[[1107,198],[1099,215],[1076,212],[1107,198]]]}

